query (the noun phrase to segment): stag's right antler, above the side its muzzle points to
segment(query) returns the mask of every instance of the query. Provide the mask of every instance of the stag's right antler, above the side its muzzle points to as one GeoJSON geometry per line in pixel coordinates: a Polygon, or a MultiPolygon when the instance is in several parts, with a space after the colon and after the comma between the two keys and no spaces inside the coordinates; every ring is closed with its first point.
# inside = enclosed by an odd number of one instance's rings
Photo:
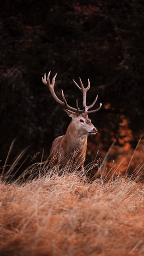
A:
{"type": "Polygon", "coordinates": [[[79,88],[79,90],[82,91],[82,93],[83,93],[83,107],[84,107],[84,110],[83,110],[83,111],[84,111],[84,113],[85,113],[85,114],[94,113],[94,112],[100,110],[100,108],[101,108],[101,106],[102,106],[102,103],[100,103],[100,106],[99,106],[98,109],[88,111],[89,109],[91,109],[92,107],[94,107],[94,105],[95,105],[95,103],[96,103],[96,100],[97,100],[97,98],[98,98],[98,95],[96,96],[96,99],[94,100],[94,102],[93,102],[90,106],[86,106],[86,93],[87,93],[87,91],[88,91],[89,88],[90,88],[90,81],[89,81],[89,79],[88,79],[88,85],[87,85],[86,88],[84,88],[84,85],[83,85],[82,80],[81,80],[80,77],[79,77],[79,79],[80,79],[81,87],[74,81],[74,79],[72,79],[72,80],[73,80],[74,84],[79,88]]]}

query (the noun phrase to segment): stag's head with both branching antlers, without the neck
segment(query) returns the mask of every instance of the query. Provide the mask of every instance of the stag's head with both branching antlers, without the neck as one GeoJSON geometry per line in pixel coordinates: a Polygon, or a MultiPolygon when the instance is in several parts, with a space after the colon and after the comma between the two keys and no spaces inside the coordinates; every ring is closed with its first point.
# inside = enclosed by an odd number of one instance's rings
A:
{"type": "Polygon", "coordinates": [[[96,100],[97,100],[97,97],[96,96],[96,99],[94,100],[94,102],[90,105],[90,106],[87,106],[86,105],[86,93],[87,91],[89,90],[90,88],[90,81],[88,79],[88,85],[86,88],[84,88],[84,85],[82,83],[82,80],[81,78],[80,79],[80,85],[79,86],[73,79],[73,82],[74,84],[78,87],[78,89],[80,91],[82,91],[82,94],[83,94],[83,108],[82,110],[80,110],[79,106],[78,106],[78,100],[76,99],[76,109],[69,106],[67,101],[66,101],[66,98],[64,96],[64,93],[63,93],[63,90],[61,90],[61,93],[62,93],[62,98],[63,98],[63,101],[61,101],[57,95],[55,94],[55,91],[54,91],[54,85],[55,85],[55,78],[57,76],[57,73],[55,74],[55,76],[53,77],[52,79],[52,82],[50,84],[50,79],[49,79],[49,76],[50,76],[50,71],[48,73],[48,77],[46,79],[46,73],[44,74],[44,78],[42,77],[42,82],[48,86],[50,92],[51,92],[51,95],[53,96],[53,98],[60,104],[62,105],[63,107],[63,110],[72,118],[72,126],[73,128],[75,128],[79,134],[81,134],[83,137],[85,136],[88,136],[89,134],[96,134],[97,133],[97,129],[96,127],[92,124],[91,120],[88,118],[88,114],[89,113],[94,113],[98,110],[100,110],[101,106],[102,106],[102,103],[100,103],[100,106],[99,108],[97,108],[96,110],[89,110],[91,109],[95,103],[96,103],[96,100]],[[89,111],[88,111],[89,110],[89,111]]]}

